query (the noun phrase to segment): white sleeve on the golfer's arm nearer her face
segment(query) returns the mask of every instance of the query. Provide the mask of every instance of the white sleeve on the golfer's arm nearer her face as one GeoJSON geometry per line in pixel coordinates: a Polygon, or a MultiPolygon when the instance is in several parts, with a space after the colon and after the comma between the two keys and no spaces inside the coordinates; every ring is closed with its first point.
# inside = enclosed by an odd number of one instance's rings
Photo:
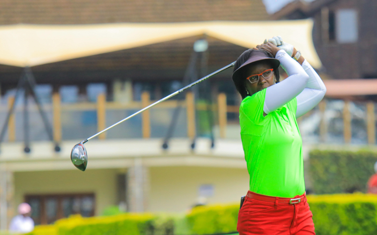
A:
{"type": "Polygon", "coordinates": [[[284,81],[266,88],[263,111],[268,114],[298,96],[307,85],[309,75],[304,68],[284,50],[276,53],[276,59],[288,76],[284,81]]]}

